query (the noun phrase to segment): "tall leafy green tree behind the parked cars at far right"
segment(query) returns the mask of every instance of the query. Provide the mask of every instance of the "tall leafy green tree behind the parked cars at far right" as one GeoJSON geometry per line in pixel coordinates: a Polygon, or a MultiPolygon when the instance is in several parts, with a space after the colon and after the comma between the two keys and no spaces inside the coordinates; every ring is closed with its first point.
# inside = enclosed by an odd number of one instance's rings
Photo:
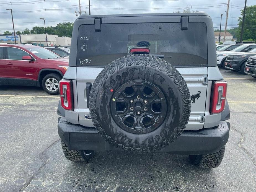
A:
{"type": "MultiPolygon", "coordinates": [[[[244,20],[244,34],[243,40],[253,39],[256,40],[256,5],[247,6],[245,12],[245,20],[244,20]]],[[[244,10],[241,10],[241,17],[238,18],[239,30],[237,30],[236,35],[237,39],[240,40],[241,36],[241,28],[242,28],[242,20],[244,15],[244,10]]]]}

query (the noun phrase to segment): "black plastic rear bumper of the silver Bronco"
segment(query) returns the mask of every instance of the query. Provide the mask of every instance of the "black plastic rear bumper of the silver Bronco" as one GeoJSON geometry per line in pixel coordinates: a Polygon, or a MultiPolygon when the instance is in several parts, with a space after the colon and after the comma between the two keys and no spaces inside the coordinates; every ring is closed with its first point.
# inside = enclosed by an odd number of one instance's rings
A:
{"type": "MultiPolygon", "coordinates": [[[[95,128],[84,127],[58,118],[58,133],[61,139],[74,150],[92,151],[121,151],[113,147],[104,139],[95,128]]],[[[218,151],[227,143],[229,137],[229,122],[221,121],[219,126],[198,131],[183,131],[177,140],[168,147],[156,152],[171,154],[211,154],[218,151]]]]}

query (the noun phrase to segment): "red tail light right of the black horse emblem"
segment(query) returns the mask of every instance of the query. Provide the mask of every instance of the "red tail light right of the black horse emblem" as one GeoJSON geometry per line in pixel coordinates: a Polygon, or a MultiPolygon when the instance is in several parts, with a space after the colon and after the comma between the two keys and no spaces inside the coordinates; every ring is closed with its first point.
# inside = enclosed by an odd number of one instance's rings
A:
{"type": "Polygon", "coordinates": [[[227,82],[215,81],[211,98],[211,114],[220,113],[225,108],[227,94],[227,82]]]}

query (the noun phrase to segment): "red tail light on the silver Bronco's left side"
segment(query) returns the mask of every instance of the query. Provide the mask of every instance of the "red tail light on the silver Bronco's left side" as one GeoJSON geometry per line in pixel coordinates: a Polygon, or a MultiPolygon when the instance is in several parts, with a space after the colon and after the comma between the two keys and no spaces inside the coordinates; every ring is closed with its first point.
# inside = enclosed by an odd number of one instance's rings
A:
{"type": "Polygon", "coordinates": [[[65,110],[74,110],[72,82],[69,80],[60,81],[60,102],[65,110]]]}

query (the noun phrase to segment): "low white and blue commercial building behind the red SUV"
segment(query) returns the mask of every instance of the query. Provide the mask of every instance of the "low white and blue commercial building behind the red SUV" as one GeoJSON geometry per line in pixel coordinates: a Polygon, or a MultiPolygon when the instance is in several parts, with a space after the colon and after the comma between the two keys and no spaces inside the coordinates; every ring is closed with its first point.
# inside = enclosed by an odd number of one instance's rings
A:
{"type": "MultiPolygon", "coordinates": [[[[45,34],[38,35],[16,35],[18,44],[32,44],[37,46],[46,46],[45,34]]],[[[71,37],[58,37],[57,35],[47,35],[48,46],[70,45],[71,37]]],[[[0,43],[15,43],[14,36],[0,35],[0,43]]]]}

